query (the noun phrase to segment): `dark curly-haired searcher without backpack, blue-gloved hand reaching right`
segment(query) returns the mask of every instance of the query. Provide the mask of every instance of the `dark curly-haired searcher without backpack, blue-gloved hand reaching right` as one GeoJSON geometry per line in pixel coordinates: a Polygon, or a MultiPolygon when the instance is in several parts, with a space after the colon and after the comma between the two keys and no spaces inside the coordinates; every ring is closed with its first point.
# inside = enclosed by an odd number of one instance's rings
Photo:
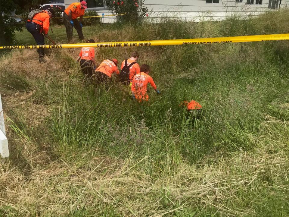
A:
{"type": "Polygon", "coordinates": [[[157,90],[157,86],[154,83],[154,80],[148,74],[151,71],[151,67],[147,64],[142,64],[140,67],[141,73],[136,74],[132,78],[132,98],[136,99],[138,102],[148,101],[149,96],[147,94],[148,91],[148,83],[154,88],[157,94],[160,94],[160,91],[157,90]]]}

